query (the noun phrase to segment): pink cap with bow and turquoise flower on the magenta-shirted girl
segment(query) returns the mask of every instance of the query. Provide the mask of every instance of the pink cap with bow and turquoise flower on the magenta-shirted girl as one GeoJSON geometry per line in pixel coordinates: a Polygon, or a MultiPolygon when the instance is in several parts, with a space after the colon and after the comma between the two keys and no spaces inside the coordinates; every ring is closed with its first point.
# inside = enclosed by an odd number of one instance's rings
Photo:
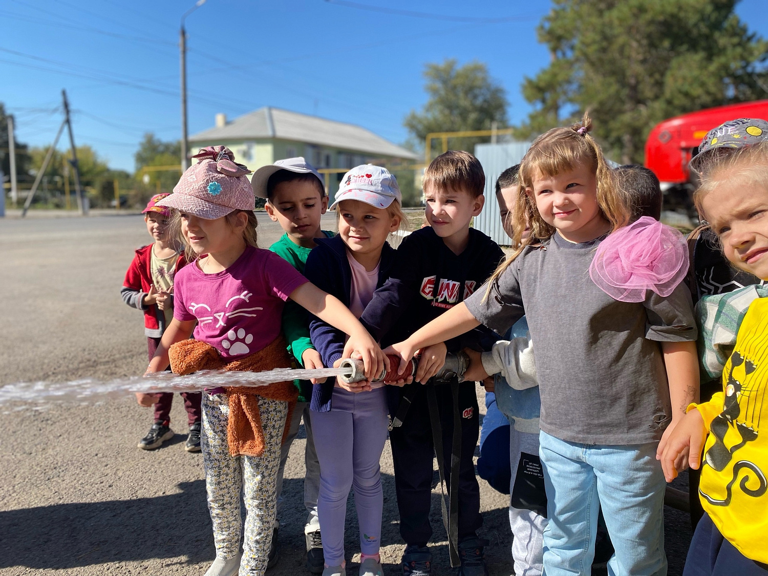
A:
{"type": "Polygon", "coordinates": [[[204,220],[216,220],[233,210],[254,210],[256,198],[246,174],[250,170],[237,164],[226,146],[202,148],[193,158],[200,158],[181,175],[174,194],[157,202],[188,212],[204,220]]]}

